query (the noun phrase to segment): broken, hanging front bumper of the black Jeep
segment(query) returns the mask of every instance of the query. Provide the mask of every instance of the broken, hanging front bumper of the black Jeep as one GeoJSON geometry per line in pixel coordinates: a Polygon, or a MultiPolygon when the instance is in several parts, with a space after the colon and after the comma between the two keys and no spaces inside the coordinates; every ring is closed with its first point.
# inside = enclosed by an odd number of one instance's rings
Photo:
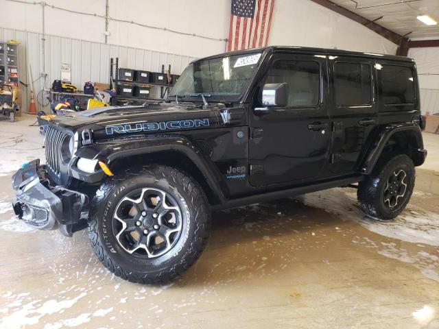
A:
{"type": "Polygon", "coordinates": [[[60,229],[66,236],[86,226],[81,212],[86,205],[86,195],[69,191],[62,186],[51,186],[45,166],[33,160],[12,176],[16,197],[12,206],[15,214],[38,230],[60,229]]]}

